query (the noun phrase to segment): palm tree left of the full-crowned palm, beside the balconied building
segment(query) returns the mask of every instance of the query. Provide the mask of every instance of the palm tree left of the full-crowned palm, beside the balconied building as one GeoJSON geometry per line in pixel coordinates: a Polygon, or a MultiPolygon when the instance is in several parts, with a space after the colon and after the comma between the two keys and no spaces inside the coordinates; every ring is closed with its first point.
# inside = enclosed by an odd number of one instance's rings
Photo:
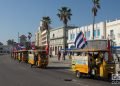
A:
{"type": "Polygon", "coordinates": [[[47,30],[47,45],[48,45],[48,54],[49,54],[49,35],[50,35],[50,28],[49,24],[51,24],[51,19],[49,16],[42,17],[42,30],[47,30]]]}

